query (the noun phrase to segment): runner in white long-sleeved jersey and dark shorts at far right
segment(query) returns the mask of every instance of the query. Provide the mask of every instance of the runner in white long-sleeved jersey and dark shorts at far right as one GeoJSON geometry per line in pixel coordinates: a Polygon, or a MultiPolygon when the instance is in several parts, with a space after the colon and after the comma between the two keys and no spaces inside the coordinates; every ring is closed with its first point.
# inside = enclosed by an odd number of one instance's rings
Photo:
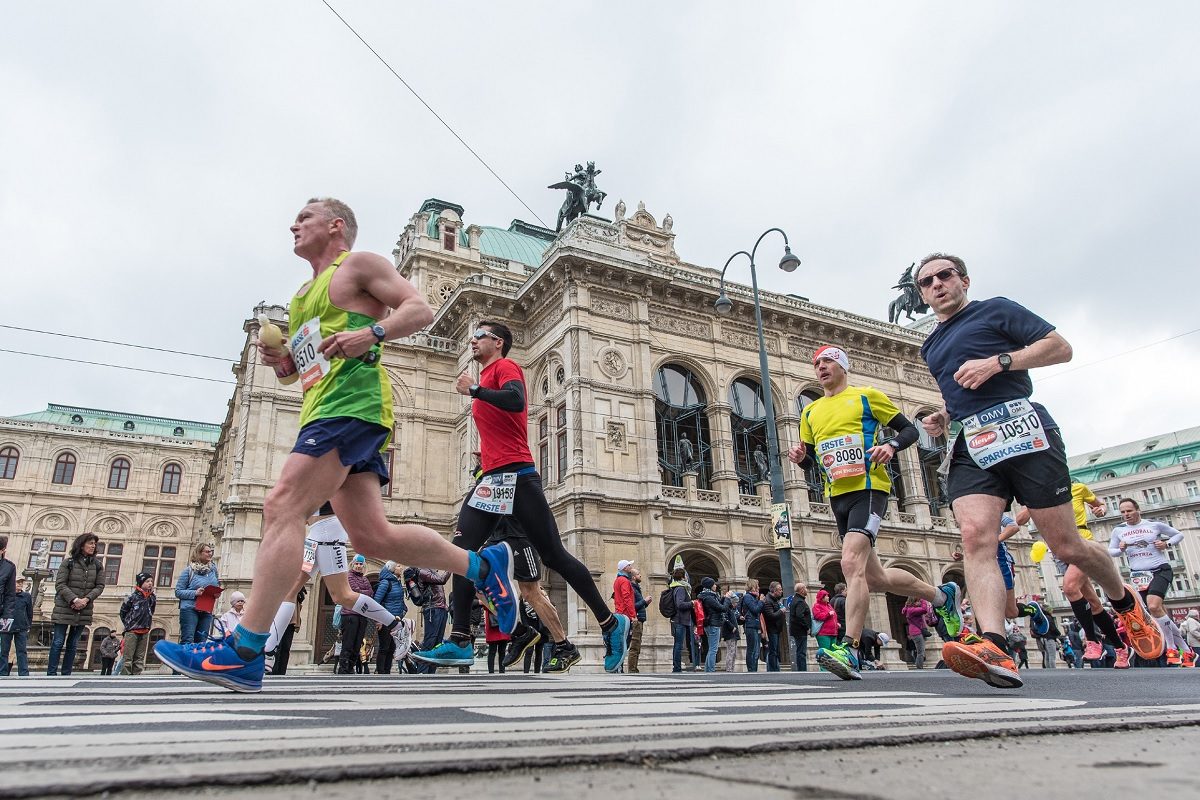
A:
{"type": "Polygon", "coordinates": [[[1109,555],[1126,557],[1129,564],[1129,582],[1146,599],[1151,616],[1163,631],[1168,664],[1178,666],[1183,654],[1190,654],[1189,661],[1194,663],[1195,654],[1163,608],[1163,597],[1170,590],[1171,578],[1175,577],[1165,552],[1171,545],[1183,541],[1183,534],[1165,523],[1142,519],[1141,507],[1136,500],[1123,498],[1118,507],[1124,522],[1112,529],[1112,536],[1109,537],[1109,555]]]}

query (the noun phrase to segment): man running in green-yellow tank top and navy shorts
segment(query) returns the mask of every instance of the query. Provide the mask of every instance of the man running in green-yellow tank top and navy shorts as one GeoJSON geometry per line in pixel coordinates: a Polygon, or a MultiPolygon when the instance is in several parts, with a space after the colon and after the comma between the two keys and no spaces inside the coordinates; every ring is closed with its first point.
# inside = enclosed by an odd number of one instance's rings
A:
{"type": "MultiPolygon", "coordinates": [[[[394,525],[379,486],[388,468],[379,453],[391,439],[391,387],[379,366],[383,342],[415,333],[433,312],[396,267],[374,253],[353,253],[358,223],[341,200],[313,198],[292,224],[293,251],[312,264],[312,279],[289,311],[290,356],[300,373],[300,434],[263,504],[263,539],[254,561],[254,602],[221,642],[160,642],[155,652],[178,672],[240,692],[263,681],[263,649],[271,618],[288,600],[302,560],[305,523],[326,500],[365,555],[450,570],[475,583],[502,628],[517,621],[512,553],[506,543],[473,553],[424,525],[394,525]]],[[[258,343],[264,365],[288,354],[258,343]]]]}

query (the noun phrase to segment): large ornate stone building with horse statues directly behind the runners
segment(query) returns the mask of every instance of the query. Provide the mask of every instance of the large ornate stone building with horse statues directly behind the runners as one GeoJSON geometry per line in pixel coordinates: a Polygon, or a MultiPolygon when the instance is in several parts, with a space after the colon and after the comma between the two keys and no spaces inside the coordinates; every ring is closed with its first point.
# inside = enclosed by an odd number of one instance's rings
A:
{"type": "MultiPolygon", "coordinates": [[[[660,223],[642,204],[629,218],[623,203],[616,221],[586,215],[557,237],[521,221],[506,229],[468,225],[464,216],[452,203],[427,200],[394,251],[436,319],[428,332],[384,351],[396,404],[390,518],[452,533],[478,449],[468,398],[454,381],[473,368],[469,332],[496,319],[514,331],[510,356],[529,386],[529,443],[564,543],[604,594],[618,559],[641,566],[649,597],[677,554],[697,584],[704,576],[734,588],[749,577],[776,579],[769,492],[754,461],[766,417],[750,289],[727,284],[736,307],[719,317],[718,271],[682,260],[670,215],[660,223]]],[[[298,285],[305,270],[298,263],[298,285]]],[[[910,419],[940,405],[919,360],[922,333],[797,295],[762,293],[762,305],[781,449],[797,441],[799,410],[821,395],[811,368],[820,344],[844,347],[853,381],[887,392],[910,419]]],[[[259,312],[286,327],[283,307],[259,312]]],[[[298,390],[278,385],[258,362],[253,315],[245,329],[238,387],[200,497],[200,534],[216,537],[226,583],[241,589],[263,498],[292,447],[300,409],[298,390]]],[[[962,581],[958,531],[934,474],[942,445],[923,440],[901,453],[878,540],[884,564],[935,583],[962,581]]],[[[841,578],[839,542],[820,483],[788,463],[772,469],[784,470],[792,506],[797,579],[833,584],[841,578]]],[[[1027,554],[1018,558],[1019,594],[1031,594],[1033,569],[1027,554]]],[[[599,646],[574,593],[557,576],[550,588],[572,639],[599,646]]],[[[299,663],[331,643],[331,608],[319,594],[305,608],[299,663]]],[[[902,640],[902,601],[872,597],[868,624],[902,640]]],[[[652,608],[648,667],[666,663],[668,643],[668,626],[652,608]]]]}

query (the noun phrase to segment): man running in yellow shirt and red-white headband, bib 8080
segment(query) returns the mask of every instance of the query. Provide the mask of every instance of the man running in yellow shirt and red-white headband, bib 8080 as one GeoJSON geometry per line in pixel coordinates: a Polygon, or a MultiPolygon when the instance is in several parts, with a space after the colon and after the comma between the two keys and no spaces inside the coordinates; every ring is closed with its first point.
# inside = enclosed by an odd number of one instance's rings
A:
{"type": "Polygon", "coordinates": [[[846,633],[842,642],[817,650],[817,663],[842,680],[859,680],[858,651],[871,591],[928,600],[954,637],[962,627],[959,587],[934,587],[904,570],[884,569],[875,539],[887,512],[892,479],[887,464],[917,441],[917,428],[887,395],[850,385],[850,356],[823,347],[812,356],[824,397],[800,414],[800,444],[787,451],[793,464],[816,463],[824,475],[829,504],[841,535],[841,571],[846,576],[846,633]],[[883,429],[895,433],[884,438],[883,429]]]}

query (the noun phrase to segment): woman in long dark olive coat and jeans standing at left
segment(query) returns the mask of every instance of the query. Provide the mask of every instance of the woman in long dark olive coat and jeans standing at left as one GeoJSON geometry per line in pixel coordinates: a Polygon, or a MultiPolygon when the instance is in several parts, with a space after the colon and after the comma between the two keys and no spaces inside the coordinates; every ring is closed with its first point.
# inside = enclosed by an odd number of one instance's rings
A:
{"type": "Polygon", "coordinates": [[[96,599],[104,591],[104,571],[96,558],[96,534],[79,534],[67,559],[59,565],[54,577],[54,636],[50,639],[50,661],[47,675],[59,673],[59,657],[64,675],[74,668],[76,645],[91,625],[96,599]]]}

